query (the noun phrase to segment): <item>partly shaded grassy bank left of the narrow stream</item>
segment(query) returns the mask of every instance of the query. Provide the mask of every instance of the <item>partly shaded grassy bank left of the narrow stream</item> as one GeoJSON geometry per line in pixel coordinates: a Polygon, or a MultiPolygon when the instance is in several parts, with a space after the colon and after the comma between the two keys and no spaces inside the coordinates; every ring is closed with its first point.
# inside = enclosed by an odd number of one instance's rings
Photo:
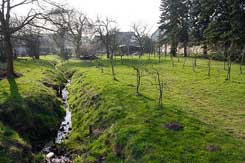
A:
{"type": "Polygon", "coordinates": [[[22,77],[0,81],[0,162],[33,161],[30,150],[55,136],[64,115],[56,91],[43,84],[57,87],[61,82],[52,64],[27,59],[15,67],[22,77]]]}

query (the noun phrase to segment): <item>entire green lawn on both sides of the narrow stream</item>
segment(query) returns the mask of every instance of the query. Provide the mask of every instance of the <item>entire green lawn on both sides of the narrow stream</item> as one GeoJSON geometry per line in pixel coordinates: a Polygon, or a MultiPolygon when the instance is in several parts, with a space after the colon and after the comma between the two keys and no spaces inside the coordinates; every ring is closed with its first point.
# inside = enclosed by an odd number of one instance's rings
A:
{"type": "Polygon", "coordinates": [[[68,88],[73,129],[63,145],[74,162],[245,162],[245,74],[239,65],[226,81],[222,62],[212,62],[209,77],[207,60],[198,59],[195,72],[191,58],[185,67],[183,58],[175,58],[175,67],[170,58],[115,60],[117,81],[104,57],[17,60],[16,71],[23,76],[0,80],[0,162],[33,161],[31,145],[55,136],[63,112],[50,86],[64,84],[64,76],[73,72],[68,88]],[[132,65],[142,71],[140,95],[132,65]],[[156,70],[165,83],[162,108],[156,70]],[[171,123],[182,128],[172,131],[166,127],[171,123]]]}

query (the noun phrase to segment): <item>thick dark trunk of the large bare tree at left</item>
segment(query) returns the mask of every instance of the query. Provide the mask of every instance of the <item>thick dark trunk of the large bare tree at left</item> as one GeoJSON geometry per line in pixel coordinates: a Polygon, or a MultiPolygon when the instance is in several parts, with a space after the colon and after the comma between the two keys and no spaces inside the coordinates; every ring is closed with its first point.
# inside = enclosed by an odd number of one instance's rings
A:
{"type": "Polygon", "coordinates": [[[13,63],[13,47],[11,44],[11,35],[4,35],[4,49],[7,56],[7,77],[12,78],[15,76],[14,74],[14,63],[13,63]]]}

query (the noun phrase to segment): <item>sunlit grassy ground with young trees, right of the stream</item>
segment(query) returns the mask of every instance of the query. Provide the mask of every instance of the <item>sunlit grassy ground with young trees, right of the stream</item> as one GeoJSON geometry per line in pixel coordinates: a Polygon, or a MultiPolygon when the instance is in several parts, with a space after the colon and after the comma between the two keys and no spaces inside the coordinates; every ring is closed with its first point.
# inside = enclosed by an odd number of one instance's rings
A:
{"type": "MultiPolygon", "coordinates": [[[[142,79],[142,96],[135,95],[136,76],[130,59],[116,65],[119,82],[112,81],[108,62],[104,73],[97,63],[70,61],[75,68],[70,87],[73,133],[66,145],[80,157],[77,162],[245,162],[245,77],[236,65],[232,80],[225,81],[222,63],[213,63],[207,77],[207,61],[199,60],[192,72],[191,60],[185,68],[170,60],[157,64],[146,59],[149,68],[161,70],[167,83],[164,108],[157,106],[157,89],[151,85],[156,75],[148,72],[142,79]],[[151,82],[150,82],[151,81],[151,82]],[[164,126],[179,122],[182,131],[164,126]],[[92,132],[90,132],[91,128],[92,132]],[[208,146],[221,151],[209,152],[208,146]]],[[[101,65],[101,64],[100,64],[101,65]]],[[[74,157],[76,157],[74,155],[74,157]]]]}

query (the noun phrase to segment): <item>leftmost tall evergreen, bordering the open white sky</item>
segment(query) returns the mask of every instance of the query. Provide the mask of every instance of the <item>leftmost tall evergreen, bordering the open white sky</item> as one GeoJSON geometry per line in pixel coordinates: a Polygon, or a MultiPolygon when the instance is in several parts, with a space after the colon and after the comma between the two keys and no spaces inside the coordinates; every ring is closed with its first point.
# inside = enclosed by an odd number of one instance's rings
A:
{"type": "MultiPolygon", "coordinates": [[[[176,56],[178,43],[185,49],[189,40],[189,0],[162,0],[160,10],[160,29],[171,44],[171,55],[176,56]]],[[[185,56],[187,50],[185,50],[185,56]]]]}

